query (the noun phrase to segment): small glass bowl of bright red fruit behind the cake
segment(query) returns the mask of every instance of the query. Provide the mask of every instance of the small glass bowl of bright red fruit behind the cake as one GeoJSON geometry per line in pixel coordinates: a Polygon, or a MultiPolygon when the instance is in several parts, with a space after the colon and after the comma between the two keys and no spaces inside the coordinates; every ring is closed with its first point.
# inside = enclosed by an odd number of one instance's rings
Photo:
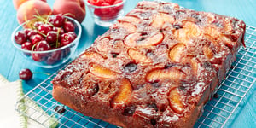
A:
{"type": "Polygon", "coordinates": [[[124,15],[125,0],[86,0],[85,3],[99,26],[111,26],[124,15]]]}

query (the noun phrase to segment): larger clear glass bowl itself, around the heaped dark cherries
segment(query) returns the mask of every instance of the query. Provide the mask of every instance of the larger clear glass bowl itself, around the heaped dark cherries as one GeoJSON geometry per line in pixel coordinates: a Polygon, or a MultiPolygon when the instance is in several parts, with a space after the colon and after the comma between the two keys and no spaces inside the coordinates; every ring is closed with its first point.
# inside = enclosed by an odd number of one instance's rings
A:
{"type": "Polygon", "coordinates": [[[32,51],[32,50],[21,49],[21,45],[15,42],[15,33],[24,30],[24,26],[27,24],[26,22],[21,24],[15,29],[15,31],[12,33],[11,40],[15,48],[20,51],[20,54],[24,56],[26,61],[29,61],[38,67],[44,67],[44,68],[58,67],[73,57],[73,53],[78,47],[79,39],[81,37],[81,32],[82,32],[81,25],[77,20],[74,20],[73,18],[70,18],[67,16],[65,16],[65,18],[67,18],[68,21],[71,21],[73,23],[73,25],[75,26],[74,32],[77,35],[76,38],[73,40],[73,42],[71,42],[70,44],[62,46],[60,48],[50,49],[45,51],[32,51]]]}

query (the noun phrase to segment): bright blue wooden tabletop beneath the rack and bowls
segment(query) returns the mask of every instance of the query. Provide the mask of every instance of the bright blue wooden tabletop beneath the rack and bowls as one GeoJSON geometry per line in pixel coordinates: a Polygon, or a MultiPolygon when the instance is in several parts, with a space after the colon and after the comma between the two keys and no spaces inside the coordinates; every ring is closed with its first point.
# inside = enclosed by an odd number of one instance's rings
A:
{"type": "MultiPolygon", "coordinates": [[[[139,0],[127,0],[125,13],[133,9],[139,0]]],[[[230,15],[244,20],[248,26],[256,26],[256,1],[255,0],[166,0],[168,2],[178,3],[189,9],[214,12],[220,15],[230,15]]],[[[54,1],[48,0],[52,6],[54,1]]],[[[18,73],[23,68],[30,68],[34,74],[33,79],[23,81],[25,91],[31,90],[37,84],[41,83],[48,75],[43,73],[55,73],[60,67],[45,69],[36,67],[26,61],[23,55],[15,49],[11,42],[11,34],[15,27],[19,26],[16,20],[16,10],[12,1],[0,0],[0,74],[9,81],[19,79],[18,73]]],[[[93,43],[95,38],[106,32],[108,28],[96,26],[90,17],[89,10],[82,22],[82,37],[79,42],[79,48],[75,55],[81,53],[93,43]]],[[[255,66],[254,66],[255,67],[255,66]]],[[[252,90],[247,93],[247,98],[242,101],[236,118],[230,127],[256,127],[256,84],[252,90]]]]}

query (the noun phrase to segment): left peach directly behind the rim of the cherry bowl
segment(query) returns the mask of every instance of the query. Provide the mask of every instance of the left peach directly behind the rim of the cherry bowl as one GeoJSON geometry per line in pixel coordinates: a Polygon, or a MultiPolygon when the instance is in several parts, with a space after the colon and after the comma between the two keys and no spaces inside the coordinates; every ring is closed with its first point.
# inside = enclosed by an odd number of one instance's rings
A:
{"type": "Polygon", "coordinates": [[[38,0],[29,0],[20,5],[17,11],[17,20],[20,24],[26,20],[32,20],[35,15],[51,15],[52,10],[49,4],[38,0]]]}

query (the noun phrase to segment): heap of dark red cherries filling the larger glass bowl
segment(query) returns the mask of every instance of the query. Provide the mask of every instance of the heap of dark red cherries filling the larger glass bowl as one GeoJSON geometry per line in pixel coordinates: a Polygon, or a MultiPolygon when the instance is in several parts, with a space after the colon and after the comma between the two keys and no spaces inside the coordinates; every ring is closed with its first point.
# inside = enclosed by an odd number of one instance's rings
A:
{"type": "Polygon", "coordinates": [[[77,38],[77,34],[74,32],[75,25],[73,22],[67,20],[64,15],[55,15],[45,20],[34,22],[32,29],[25,28],[22,32],[15,33],[17,35],[21,33],[21,36],[19,35],[20,37],[16,36],[15,38],[18,40],[17,44],[21,44],[21,49],[33,51],[32,54],[24,51],[24,54],[32,55],[34,61],[45,61],[48,64],[53,64],[61,60],[61,58],[69,56],[71,49],[66,48],[50,53],[40,51],[59,49],[62,46],[70,44],[77,38]],[[45,20],[47,20],[47,23],[44,23],[45,20]],[[26,39],[23,40],[22,38],[24,37],[26,39]]]}

